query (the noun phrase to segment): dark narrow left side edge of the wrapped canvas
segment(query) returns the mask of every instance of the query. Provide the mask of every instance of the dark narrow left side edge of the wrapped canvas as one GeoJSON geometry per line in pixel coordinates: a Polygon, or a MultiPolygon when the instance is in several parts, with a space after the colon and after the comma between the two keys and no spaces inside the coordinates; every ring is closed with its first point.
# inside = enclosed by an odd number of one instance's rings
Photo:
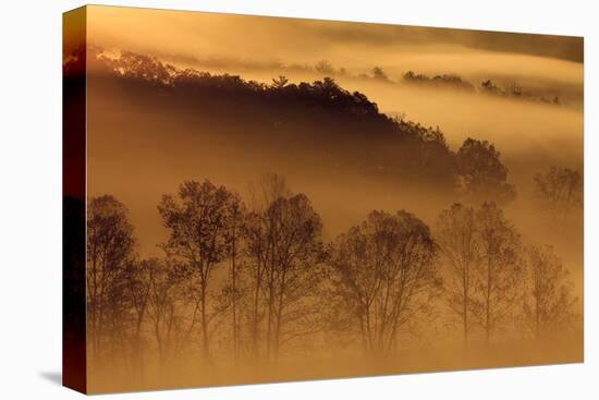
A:
{"type": "Polygon", "coordinates": [[[86,392],[86,8],[62,35],[62,383],[86,392]]]}

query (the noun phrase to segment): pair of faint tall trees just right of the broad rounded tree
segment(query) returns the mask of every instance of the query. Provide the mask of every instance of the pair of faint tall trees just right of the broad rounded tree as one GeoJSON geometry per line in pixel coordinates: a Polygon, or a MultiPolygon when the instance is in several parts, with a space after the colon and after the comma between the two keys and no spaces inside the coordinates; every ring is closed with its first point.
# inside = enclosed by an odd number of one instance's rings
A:
{"type": "Polygon", "coordinates": [[[513,323],[522,293],[519,234],[494,203],[478,209],[455,204],[440,214],[436,238],[445,265],[445,298],[461,320],[465,344],[475,327],[489,342],[513,323]]]}

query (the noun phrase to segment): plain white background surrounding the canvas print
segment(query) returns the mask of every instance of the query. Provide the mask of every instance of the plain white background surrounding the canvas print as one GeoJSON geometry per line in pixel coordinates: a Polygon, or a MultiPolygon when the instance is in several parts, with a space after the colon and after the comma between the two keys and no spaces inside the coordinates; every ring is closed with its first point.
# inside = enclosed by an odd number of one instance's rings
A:
{"type": "MultiPolygon", "coordinates": [[[[114,399],[599,398],[598,28],[594,1],[103,1],[181,10],[585,36],[585,363],[114,395],[114,399]],[[594,156],[595,154],[595,156],[594,156]]],[[[61,13],[81,1],[0,11],[0,398],[80,397],[61,369],[61,13]]],[[[298,38],[300,39],[300,38],[298,38]]]]}

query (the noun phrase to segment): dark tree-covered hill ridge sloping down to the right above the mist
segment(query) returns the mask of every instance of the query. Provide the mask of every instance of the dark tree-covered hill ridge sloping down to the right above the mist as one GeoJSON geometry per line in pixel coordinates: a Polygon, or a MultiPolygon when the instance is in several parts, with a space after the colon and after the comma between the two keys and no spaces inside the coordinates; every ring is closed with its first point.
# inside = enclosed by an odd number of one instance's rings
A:
{"type": "MultiPolygon", "coordinates": [[[[81,71],[82,54],[74,53],[65,61],[66,80],[81,71]]],[[[87,71],[88,83],[99,83],[96,87],[118,85],[119,96],[158,107],[173,119],[188,110],[197,128],[210,126],[262,151],[269,146],[290,154],[308,149],[310,162],[323,171],[473,194],[474,187],[464,187],[468,180],[463,174],[469,172],[461,171],[467,160],[459,160],[438,126],[389,117],[365,94],[346,90],[331,77],[292,83],[278,76],[266,84],[239,75],[178,69],[131,51],[109,58],[95,47],[87,49],[87,71]]],[[[494,171],[478,171],[491,178],[481,181],[493,187],[505,183],[508,169],[492,145],[478,146],[468,154],[492,158],[489,166],[505,170],[499,174],[501,182],[494,179],[494,171]]],[[[482,193],[480,201],[487,199],[489,189],[476,189],[482,193]]]]}

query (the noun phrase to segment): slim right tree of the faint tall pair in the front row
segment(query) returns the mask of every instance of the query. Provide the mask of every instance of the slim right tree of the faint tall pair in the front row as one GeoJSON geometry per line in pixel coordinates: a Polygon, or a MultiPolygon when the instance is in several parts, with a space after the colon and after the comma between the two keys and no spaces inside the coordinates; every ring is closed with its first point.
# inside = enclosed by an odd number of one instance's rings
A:
{"type": "Polygon", "coordinates": [[[473,316],[482,327],[488,343],[517,300],[523,278],[522,249],[519,234],[494,203],[480,206],[476,223],[481,259],[473,316]]]}

